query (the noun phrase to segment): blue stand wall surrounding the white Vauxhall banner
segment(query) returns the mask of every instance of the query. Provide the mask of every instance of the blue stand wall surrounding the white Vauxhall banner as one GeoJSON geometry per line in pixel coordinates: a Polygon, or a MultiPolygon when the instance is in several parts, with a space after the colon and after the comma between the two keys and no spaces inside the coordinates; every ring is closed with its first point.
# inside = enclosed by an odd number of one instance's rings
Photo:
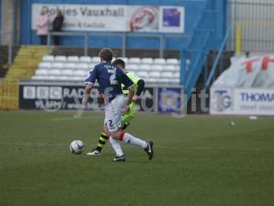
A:
{"type": "MultiPolygon", "coordinates": [[[[1,0],[0,0],[1,1],[1,0]]],[[[39,39],[36,31],[32,30],[32,3],[70,3],[70,4],[125,4],[125,5],[180,5],[186,10],[185,16],[185,33],[188,38],[166,38],[165,49],[184,49],[188,39],[191,37],[193,29],[201,18],[202,11],[206,7],[207,0],[177,0],[177,1],[161,1],[161,0],[25,0],[21,3],[21,43],[22,44],[38,44],[39,39]]],[[[220,16],[224,18],[224,16],[220,16]]],[[[220,30],[220,29],[219,29],[220,30]]],[[[225,34],[225,30],[216,32],[219,38],[225,34]]],[[[66,37],[62,38],[62,45],[82,46],[84,38],[66,37]]],[[[121,48],[122,41],[119,37],[90,37],[88,39],[89,47],[112,47],[121,48]]],[[[158,38],[127,38],[127,47],[132,49],[147,48],[157,49],[160,45],[158,38]]],[[[216,43],[218,48],[218,43],[216,43]]]]}

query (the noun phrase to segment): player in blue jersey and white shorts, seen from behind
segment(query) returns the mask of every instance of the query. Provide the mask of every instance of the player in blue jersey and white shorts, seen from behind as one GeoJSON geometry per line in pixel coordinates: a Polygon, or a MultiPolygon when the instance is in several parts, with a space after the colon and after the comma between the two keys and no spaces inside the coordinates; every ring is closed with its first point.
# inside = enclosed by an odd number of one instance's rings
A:
{"type": "Polygon", "coordinates": [[[99,56],[101,63],[95,65],[90,76],[85,80],[86,87],[82,104],[86,105],[88,102],[90,91],[95,80],[97,80],[105,104],[103,130],[107,135],[110,135],[110,144],[116,152],[114,161],[125,161],[125,155],[118,140],[141,147],[147,152],[149,160],[151,160],[153,158],[153,141],[144,141],[120,130],[122,113],[128,111],[134,96],[134,82],[127,77],[121,68],[112,65],[113,52],[111,49],[101,49],[99,56]],[[127,101],[124,98],[121,84],[129,89],[127,101]]]}

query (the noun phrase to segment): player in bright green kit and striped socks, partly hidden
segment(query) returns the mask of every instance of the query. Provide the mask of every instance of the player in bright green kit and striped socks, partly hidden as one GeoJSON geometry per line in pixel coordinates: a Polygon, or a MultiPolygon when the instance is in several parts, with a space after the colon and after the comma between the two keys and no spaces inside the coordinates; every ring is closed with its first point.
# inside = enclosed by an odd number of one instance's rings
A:
{"type": "MultiPolygon", "coordinates": [[[[125,62],[121,59],[116,59],[114,62],[112,62],[113,65],[116,65],[123,69],[123,71],[127,74],[127,76],[134,82],[134,89],[136,90],[136,93],[134,97],[132,98],[132,103],[129,104],[129,111],[123,113],[123,122],[121,124],[121,130],[125,130],[127,126],[129,126],[129,122],[134,118],[135,113],[136,113],[136,108],[135,108],[135,102],[144,90],[145,87],[145,82],[141,78],[138,78],[138,76],[135,76],[134,73],[130,73],[125,70],[125,62]]],[[[123,87],[123,93],[124,95],[127,95],[129,91],[123,87]]],[[[86,155],[90,156],[95,156],[95,155],[101,155],[101,150],[103,146],[105,146],[105,143],[108,141],[108,135],[106,135],[104,132],[101,133],[99,137],[99,141],[97,144],[97,147],[93,149],[91,152],[88,152],[86,155]]]]}

